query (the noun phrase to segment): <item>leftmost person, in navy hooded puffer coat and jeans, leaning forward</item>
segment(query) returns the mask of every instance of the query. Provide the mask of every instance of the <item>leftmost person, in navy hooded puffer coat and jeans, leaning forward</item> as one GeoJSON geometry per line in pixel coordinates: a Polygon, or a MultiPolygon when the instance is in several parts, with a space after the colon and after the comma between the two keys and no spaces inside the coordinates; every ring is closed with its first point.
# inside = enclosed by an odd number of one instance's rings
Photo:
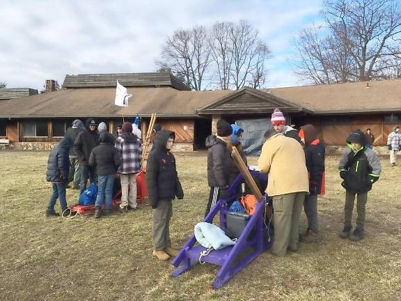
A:
{"type": "Polygon", "coordinates": [[[67,209],[67,201],[65,200],[65,187],[68,184],[68,173],[70,172],[70,159],[68,154],[70,153],[71,146],[74,145],[74,141],[69,137],[64,137],[57,144],[49,155],[47,160],[47,172],[46,180],[52,183],[53,194],[50,196],[49,205],[45,215],[59,216],[54,211],[54,205],[57,199],[60,201],[61,213],[67,209]]]}

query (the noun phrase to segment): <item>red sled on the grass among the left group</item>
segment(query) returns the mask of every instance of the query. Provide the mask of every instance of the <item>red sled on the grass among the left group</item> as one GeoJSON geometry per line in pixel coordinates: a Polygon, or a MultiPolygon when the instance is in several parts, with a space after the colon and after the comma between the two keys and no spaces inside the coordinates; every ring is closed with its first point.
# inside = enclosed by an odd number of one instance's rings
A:
{"type": "MultiPolygon", "coordinates": [[[[148,187],[146,187],[146,169],[141,169],[139,173],[136,174],[136,203],[137,206],[148,206],[148,187]]],[[[119,181],[118,181],[119,182],[119,181]]],[[[118,185],[118,189],[113,196],[112,206],[116,207],[121,203],[121,187],[118,185]]],[[[66,209],[62,216],[65,218],[72,218],[77,215],[93,215],[95,214],[95,204],[91,205],[74,205],[69,208],[70,212],[66,213],[66,209]]],[[[104,210],[104,204],[102,205],[102,210],[104,210]]]]}

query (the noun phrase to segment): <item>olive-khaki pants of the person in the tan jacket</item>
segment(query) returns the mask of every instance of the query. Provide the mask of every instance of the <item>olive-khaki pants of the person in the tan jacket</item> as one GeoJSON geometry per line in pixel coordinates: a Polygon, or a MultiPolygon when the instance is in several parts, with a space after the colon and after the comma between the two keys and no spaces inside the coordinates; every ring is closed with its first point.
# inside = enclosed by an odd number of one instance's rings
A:
{"type": "Polygon", "coordinates": [[[299,240],[299,217],[304,205],[305,192],[273,196],[274,242],[272,253],[285,256],[287,248],[297,249],[299,240]]]}

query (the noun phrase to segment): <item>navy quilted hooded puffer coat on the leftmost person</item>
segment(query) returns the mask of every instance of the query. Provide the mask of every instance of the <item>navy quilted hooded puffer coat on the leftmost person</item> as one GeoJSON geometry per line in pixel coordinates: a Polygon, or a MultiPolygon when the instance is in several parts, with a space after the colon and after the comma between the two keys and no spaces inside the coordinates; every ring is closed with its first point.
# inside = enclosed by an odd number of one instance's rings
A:
{"type": "Polygon", "coordinates": [[[68,173],[70,172],[70,153],[74,141],[70,137],[64,137],[53,148],[47,160],[46,180],[53,183],[68,183],[68,173]]]}

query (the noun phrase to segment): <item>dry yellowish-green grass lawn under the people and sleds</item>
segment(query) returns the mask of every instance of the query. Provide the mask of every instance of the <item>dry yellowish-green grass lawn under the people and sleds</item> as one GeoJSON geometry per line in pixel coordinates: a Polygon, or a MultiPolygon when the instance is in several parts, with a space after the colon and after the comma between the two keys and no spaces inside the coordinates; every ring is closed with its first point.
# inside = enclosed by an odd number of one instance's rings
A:
{"type": "MultiPolygon", "coordinates": [[[[401,300],[401,167],[388,158],[368,194],[365,239],[338,237],[345,190],[338,157],[328,157],[324,241],[285,258],[265,252],[215,291],[214,266],[172,278],[173,265],[152,258],[150,207],[96,220],[45,217],[47,157],[0,152],[0,300],[401,300]]],[[[173,202],[170,231],[179,247],[201,222],[209,189],[205,153],[176,157],[185,197],[173,202]]],[[[77,194],[68,190],[68,205],[77,194]]],[[[303,214],[303,230],[305,222],[303,214]]]]}

